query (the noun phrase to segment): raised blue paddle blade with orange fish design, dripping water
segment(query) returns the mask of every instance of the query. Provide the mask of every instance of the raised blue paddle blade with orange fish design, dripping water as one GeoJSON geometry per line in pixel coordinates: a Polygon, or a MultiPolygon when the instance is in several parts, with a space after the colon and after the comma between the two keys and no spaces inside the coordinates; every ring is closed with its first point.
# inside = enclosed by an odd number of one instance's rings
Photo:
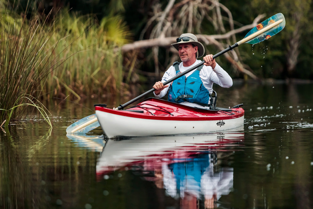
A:
{"type": "Polygon", "coordinates": [[[249,36],[251,34],[254,34],[258,30],[265,28],[266,26],[273,24],[279,20],[283,20],[279,25],[276,25],[275,27],[267,30],[266,32],[260,34],[259,36],[255,37],[254,39],[251,39],[245,43],[257,44],[257,43],[264,41],[264,40],[267,40],[270,37],[272,37],[273,35],[279,33],[282,29],[285,28],[285,25],[286,25],[285,17],[282,13],[277,13],[277,14],[273,15],[272,17],[268,18],[267,20],[264,20],[262,23],[258,24],[256,27],[251,29],[249,31],[249,33],[247,33],[247,35],[244,38],[246,38],[247,36],[249,36]]]}

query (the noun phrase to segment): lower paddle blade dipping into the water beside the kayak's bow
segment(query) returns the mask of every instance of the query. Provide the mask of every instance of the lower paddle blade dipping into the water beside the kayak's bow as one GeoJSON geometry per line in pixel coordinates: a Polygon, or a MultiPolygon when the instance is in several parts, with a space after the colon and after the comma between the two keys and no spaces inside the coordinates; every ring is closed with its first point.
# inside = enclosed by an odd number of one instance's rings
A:
{"type": "Polygon", "coordinates": [[[66,128],[66,133],[88,133],[99,126],[96,114],[92,114],[71,124],[66,128]]]}

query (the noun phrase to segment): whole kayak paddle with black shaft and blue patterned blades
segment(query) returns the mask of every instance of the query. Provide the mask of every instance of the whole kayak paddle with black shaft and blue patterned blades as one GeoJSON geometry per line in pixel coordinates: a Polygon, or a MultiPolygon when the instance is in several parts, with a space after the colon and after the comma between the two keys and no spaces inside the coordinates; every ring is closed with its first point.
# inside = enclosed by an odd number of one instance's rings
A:
{"type": "MultiPolygon", "coordinates": [[[[224,49],[223,51],[217,53],[216,55],[213,55],[213,59],[217,58],[220,55],[223,55],[224,53],[233,50],[233,48],[238,47],[240,44],[248,43],[248,44],[256,44],[261,41],[267,40],[270,37],[274,36],[275,34],[279,33],[282,29],[285,27],[285,17],[282,13],[277,13],[273,15],[272,17],[264,20],[262,23],[255,26],[253,29],[249,31],[249,33],[246,34],[246,36],[238,41],[237,43],[233,44],[232,46],[228,46],[228,48],[224,49]]],[[[167,85],[171,83],[172,81],[176,80],[177,78],[193,71],[194,69],[198,68],[199,66],[203,65],[205,62],[204,60],[200,62],[198,65],[193,66],[192,68],[188,69],[187,71],[174,76],[173,78],[165,81],[163,85],[167,85]]],[[[155,91],[154,88],[150,89],[149,91],[146,91],[145,93],[141,94],[140,96],[132,99],[129,102],[126,102],[125,104],[122,104],[116,108],[115,110],[122,110],[124,107],[130,105],[133,102],[136,102],[137,100],[141,99],[142,97],[145,97],[146,95],[152,93],[155,91]]],[[[67,133],[87,133],[88,131],[97,128],[100,126],[97,119],[95,118],[95,114],[87,116],[83,119],[80,119],[79,121],[73,123],[70,125],[67,129],[67,133]],[[92,119],[90,119],[92,118],[92,119]],[[95,127],[96,126],[96,127],[95,127]]]]}

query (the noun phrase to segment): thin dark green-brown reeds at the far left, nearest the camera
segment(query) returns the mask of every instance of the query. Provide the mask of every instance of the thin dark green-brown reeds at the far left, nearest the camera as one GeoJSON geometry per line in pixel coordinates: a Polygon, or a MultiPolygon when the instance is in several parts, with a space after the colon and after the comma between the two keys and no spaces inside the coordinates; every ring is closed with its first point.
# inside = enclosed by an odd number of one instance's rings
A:
{"type": "Polygon", "coordinates": [[[41,84],[58,61],[47,48],[53,34],[46,27],[49,15],[28,20],[8,10],[3,2],[0,15],[0,121],[7,120],[8,124],[12,118],[21,118],[24,104],[40,109],[36,98],[41,94],[41,84]]]}

